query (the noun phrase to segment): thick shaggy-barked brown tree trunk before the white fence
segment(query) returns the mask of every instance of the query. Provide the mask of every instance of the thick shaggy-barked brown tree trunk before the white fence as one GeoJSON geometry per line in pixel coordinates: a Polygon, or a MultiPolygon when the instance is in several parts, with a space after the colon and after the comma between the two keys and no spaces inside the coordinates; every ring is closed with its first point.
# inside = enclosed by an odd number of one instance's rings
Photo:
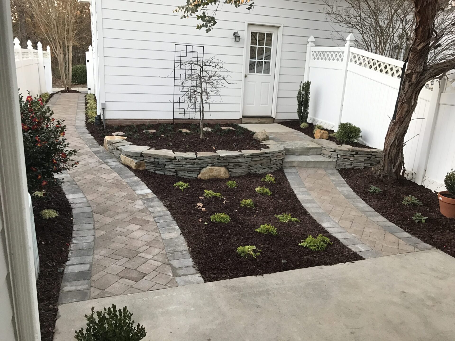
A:
{"type": "Polygon", "coordinates": [[[384,157],[379,176],[389,181],[399,178],[403,169],[404,135],[408,131],[412,114],[417,106],[420,90],[425,85],[425,68],[430,52],[430,38],[439,10],[438,0],[414,0],[416,25],[414,39],[408,55],[395,119],[389,124],[384,141],[384,157]]]}

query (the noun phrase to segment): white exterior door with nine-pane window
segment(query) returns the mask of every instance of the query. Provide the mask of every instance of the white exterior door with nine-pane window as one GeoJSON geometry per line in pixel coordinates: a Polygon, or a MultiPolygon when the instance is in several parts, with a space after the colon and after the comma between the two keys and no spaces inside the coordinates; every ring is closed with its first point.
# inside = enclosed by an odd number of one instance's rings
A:
{"type": "Polygon", "coordinates": [[[272,116],[278,27],[248,25],[243,116],[272,116]]]}

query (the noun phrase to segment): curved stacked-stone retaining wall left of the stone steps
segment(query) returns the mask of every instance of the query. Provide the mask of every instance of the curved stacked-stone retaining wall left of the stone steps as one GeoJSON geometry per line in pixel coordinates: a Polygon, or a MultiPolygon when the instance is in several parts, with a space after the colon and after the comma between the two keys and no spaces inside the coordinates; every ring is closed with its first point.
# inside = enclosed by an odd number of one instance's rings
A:
{"type": "MultiPolygon", "coordinates": [[[[173,152],[169,149],[147,149],[147,146],[131,145],[126,140],[105,139],[107,151],[116,158],[128,157],[135,163],[144,161],[145,169],[158,174],[197,178],[207,167],[226,169],[228,176],[248,173],[267,173],[283,166],[284,148],[274,141],[267,141],[270,148],[261,150],[217,150],[197,153],[173,152]],[[141,151],[142,150],[142,151],[141,151]]],[[[132,163],[131,163],[132,164],[132,163]]]]}

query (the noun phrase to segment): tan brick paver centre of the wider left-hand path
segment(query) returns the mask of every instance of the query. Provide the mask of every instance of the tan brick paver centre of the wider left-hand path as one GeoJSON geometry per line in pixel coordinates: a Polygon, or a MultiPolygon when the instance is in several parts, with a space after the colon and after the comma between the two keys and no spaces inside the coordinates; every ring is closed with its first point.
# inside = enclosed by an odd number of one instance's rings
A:
{"type": "Polygon", "coordinates": [[[51,105],[64,119],[66,139],[79,165],[69,171],[90,202],[95,220],[91,297],[131,294],[177,286],[153,217],[135,191],[101,161],[76,131],[84,95],[61,94],[51,105]]]}

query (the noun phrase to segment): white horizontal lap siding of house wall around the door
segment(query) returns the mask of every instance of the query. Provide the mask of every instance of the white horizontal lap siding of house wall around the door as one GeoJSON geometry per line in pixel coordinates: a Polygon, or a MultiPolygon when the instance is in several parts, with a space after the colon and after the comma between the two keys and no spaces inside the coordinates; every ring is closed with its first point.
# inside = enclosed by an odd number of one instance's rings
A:
{"type": "MultiPolygon", "coordinates": [[[[98,25],[97,35],[102,35],[104,56],[98,59],[100,71],[104,70],[107,119],[172,119],[174,44],[202,45],[205,57],[217,55],[225,63],[235,84],[222,90],[222,102],[214,98],[217,102],[206,117],[239,119],[245,21],[283,25],[275,118],[295,119],[308,36],[319,44],[334,45],[328,38],[333,25],[317,0],[260,0],[251,11],[221,5],[216,28],[208,34],[196,30],[194,18],[180,19],[180,14],[172,13],[185,0],[96,1],[102,7],[102,32],[98,25]],[[240,42],[233,41],[234,31],[240,33],[240,42]]],[[[95,40],[93,44],[95,51],[95,40]]]]}

